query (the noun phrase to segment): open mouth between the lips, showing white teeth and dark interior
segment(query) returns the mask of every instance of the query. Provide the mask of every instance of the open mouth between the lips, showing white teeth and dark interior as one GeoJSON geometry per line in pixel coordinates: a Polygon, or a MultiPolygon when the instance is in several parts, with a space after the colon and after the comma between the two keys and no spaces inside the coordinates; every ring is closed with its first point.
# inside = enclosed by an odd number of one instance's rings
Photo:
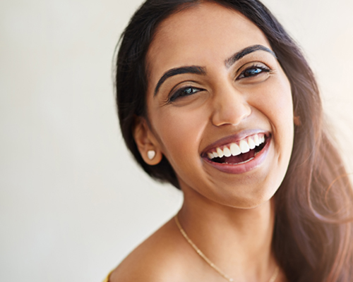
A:
{"type": "Polygon", "coordinates": [[[211,149],[206,156],[209,161],[217,164],[245,164],[261,152],[269,138],[263,133],[251,135],[238,142],[211,149]]]}

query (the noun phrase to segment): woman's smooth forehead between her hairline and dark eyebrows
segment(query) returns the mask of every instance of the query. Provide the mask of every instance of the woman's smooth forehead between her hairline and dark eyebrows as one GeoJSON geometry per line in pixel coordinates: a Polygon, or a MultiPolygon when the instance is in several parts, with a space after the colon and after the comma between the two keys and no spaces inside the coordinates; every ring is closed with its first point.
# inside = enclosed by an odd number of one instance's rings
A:
{"type": "Polygon", "coordinates": [[[179,66],[222,63],[254,44],[270,49],[263,32],[238,11],[213,2],[185,8],[157,28],[147,54],[149,80],[179,66]]]}

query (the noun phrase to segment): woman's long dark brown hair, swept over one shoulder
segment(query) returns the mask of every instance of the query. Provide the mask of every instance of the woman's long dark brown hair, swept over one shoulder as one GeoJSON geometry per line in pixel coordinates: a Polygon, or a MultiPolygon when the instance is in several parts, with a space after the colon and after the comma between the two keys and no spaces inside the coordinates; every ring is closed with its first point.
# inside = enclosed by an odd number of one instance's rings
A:
{"type": "MultiPolygon", "coordinates": [[[[275,194],[273,250],[289,281],[353,278],[353,192],[342,159],[323,124],[318,86],[294,40],[258,0],[212,0],[239,11],[265,34],[292,87],[294,147],[275,194]]],[[[165,157],[148,166],[133,139],[136,116],[148,120],[145,57],[156,27],[200,0],[147,0],[121,35],[116,61],[116,103],[121,132],[136,161],[152,178],[179,188],[165,157]]]]}

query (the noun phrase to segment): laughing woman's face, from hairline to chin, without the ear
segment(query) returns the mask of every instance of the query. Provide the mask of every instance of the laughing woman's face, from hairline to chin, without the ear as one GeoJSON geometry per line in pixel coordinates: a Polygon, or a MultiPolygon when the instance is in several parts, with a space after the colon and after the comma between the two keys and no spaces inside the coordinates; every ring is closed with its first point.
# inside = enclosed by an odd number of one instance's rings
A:
{"type": "Polygon", "coordinates": [[[270,200],[292,152],[293,107],[261,30],[218,4],[186,8],[158,27],[147,68],[150,130],[181,188],[231,207],[270,200]]]}

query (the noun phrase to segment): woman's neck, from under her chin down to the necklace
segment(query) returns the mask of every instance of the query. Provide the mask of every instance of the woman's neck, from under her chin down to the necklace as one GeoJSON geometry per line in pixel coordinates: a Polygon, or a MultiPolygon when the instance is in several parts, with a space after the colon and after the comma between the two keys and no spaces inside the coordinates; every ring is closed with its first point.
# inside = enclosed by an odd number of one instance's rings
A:
{"type": "Polygon", "coordinates": [[[238,281],[266,281],[275,269],[271,248],[273,200],[237,209],[184,190],[179,221],[195,245],[222,271],[238,281]]]}

